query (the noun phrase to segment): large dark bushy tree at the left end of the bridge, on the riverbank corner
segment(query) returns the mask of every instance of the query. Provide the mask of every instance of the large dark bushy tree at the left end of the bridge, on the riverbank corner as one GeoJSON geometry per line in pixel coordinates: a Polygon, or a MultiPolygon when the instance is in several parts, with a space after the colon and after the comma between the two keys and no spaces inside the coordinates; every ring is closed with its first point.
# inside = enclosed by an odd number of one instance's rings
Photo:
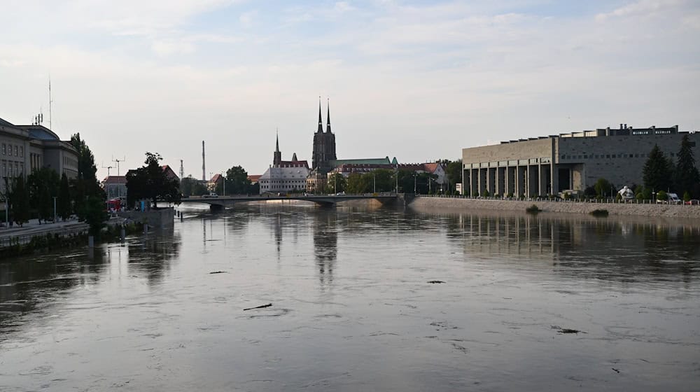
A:
{"type": "Polygon", "coordinates": [[[158,153],[146,153],[146,166],[139,167],[127,174],[127,203],[133,205],[137,200],[148,199],[153,208],[158,208],[158,200],[180,204],[180,184],[176,179],[169,179],[160,166],[158,153]]]}

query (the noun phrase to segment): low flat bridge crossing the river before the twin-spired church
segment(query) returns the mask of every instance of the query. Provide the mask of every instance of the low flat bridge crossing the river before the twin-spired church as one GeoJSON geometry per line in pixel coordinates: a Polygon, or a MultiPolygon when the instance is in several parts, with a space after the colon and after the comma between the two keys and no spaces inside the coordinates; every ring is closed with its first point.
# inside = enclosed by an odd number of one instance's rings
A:
{"type": "Polygon", "coordinates": [[[381,204],[395,202],[398,195],[395,193],[372,193],[365,195],[233,195],[218,197],[183,197],[183,203],[209,204],[211,209],[224,209],[233,207],[236,203],[242,202],[269,202],[272,200],[302,200],[304,202],[314,202],[319,206],[332,207],[339,202],[350,200],[377,200],[381,204]]]}

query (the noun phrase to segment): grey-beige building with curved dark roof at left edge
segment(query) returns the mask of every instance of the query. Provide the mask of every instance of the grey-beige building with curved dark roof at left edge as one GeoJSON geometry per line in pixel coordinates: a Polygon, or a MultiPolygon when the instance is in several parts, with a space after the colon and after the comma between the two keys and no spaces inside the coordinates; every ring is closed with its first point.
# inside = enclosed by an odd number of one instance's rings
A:
{"type": "Polygon", "coordinates": [[[0,118],[0,192],[4,179],[50,167],[69,179],[78,175],[78,151],[43,125],[13,125],[0,118]]]}

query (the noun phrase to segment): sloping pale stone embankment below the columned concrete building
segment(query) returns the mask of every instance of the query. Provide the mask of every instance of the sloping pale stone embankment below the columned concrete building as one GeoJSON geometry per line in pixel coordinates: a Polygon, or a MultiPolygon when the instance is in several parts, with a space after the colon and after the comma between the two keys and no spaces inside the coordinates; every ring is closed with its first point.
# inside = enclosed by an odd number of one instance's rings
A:
{"type": "Polygon", "coordinates": [[[451,197],[416,197],[409,207],[444,208],[463,210],[520,211],[535,204],[546,212],[589,214],[595,209],[606,209],[610,215],[661,216],[666,218],[700,219],[700,206],[675,204],[624,204],[624,203],[585,203],[550,202],[535,200],[489,200],[462,199],[451,197]]]}

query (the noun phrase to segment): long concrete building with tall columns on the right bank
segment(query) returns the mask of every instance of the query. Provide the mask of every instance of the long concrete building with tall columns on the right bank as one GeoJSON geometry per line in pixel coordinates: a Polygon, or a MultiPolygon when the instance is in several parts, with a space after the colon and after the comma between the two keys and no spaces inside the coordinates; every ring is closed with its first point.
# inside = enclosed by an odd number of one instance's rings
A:
{"type": "MultiPolygon", "coordinates": [[[[598,179],[615,186],[642,183],[648,153],[659,146],[675,161],[683,134],[689,134],[699,156],[700,133],[668,128],[628,127],[573,132],[503,141],[493,146],[463,148],[465,195],[547,195],[582,191],[598,179]]],[[[699,165],[700,160],[696,161],[699,165]]]]}

